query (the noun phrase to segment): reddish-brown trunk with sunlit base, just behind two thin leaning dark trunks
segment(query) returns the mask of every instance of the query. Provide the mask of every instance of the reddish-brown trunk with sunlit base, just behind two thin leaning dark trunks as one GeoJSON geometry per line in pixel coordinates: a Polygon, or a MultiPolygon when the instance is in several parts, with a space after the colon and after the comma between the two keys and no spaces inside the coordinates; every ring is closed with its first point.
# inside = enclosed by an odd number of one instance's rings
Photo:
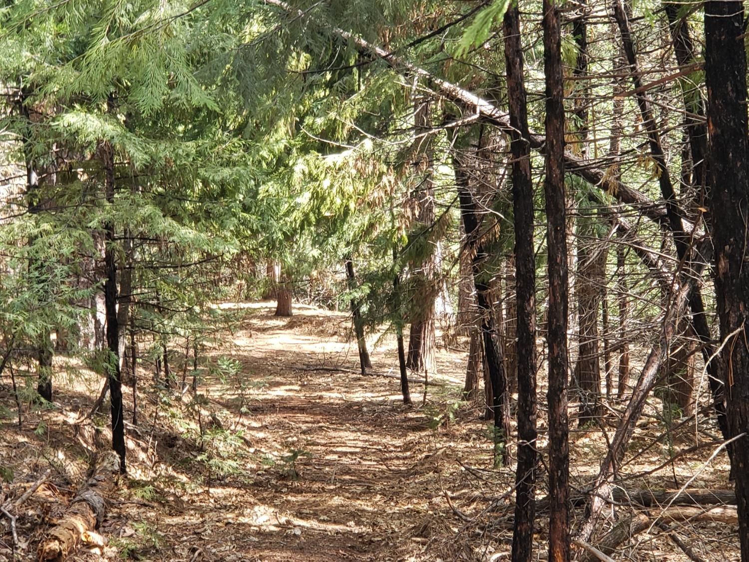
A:
{"type": "MultiPolygon", "coordinates": [[[[429,100],[420,99],[416,101],[414,112],[414,126],[416,133],[424,133],[429,124],[429,100]]],[[[419,166],[424,177],[419,181],[418,187],[413,191],[416,199],[416,221],[422,228],[420,236],[428,238],[428,232],[434,223],[434,183],[432,180],[432,154],[431,137],[419,137],[416,139],[416,164],[419,166]]],[[[427,255],[417,265],[414,277],[416,278],[417,306],[412,308],[411,329],[408,337],[408,355],[406,364],[410,369],[419,372],[432,373],[436,369],[434,347],[434,301],[439,292],[437,286],[437,260],[435,256],[436,245],[427,242],[427,255]]]]}

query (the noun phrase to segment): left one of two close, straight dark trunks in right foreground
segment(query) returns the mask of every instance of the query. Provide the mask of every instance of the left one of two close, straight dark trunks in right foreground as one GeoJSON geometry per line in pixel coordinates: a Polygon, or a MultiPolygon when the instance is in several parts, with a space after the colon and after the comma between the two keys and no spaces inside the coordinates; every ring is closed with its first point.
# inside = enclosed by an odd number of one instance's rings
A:
{"type": "Polygon", "coordinates": [[[512,208],[515,215],[515,363],[518,372],[518,467],[512,562],[533,560],[536,519],[536,255],[533,249],[533,179],[524,83],[520,12],[512,4],[503,22],[512,137],[512,208]]]}

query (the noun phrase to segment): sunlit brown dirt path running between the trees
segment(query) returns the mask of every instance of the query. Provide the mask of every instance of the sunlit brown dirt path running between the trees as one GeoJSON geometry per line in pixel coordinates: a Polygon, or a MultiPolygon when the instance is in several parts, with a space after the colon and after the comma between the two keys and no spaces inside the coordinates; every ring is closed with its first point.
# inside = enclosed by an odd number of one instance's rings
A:
{"type": "MultiPolygon", "coordinates": [[[[175,560],[440,558],[445,545],[434,539],[446,538],[455,516],[439,480],[457,474],[458,456],[481,462],[477,454],[485,461],[488,452],[470,441],[449,447],[455,445],[449,430],[438,436],[430,428],[437,406],[406,408],[397,380],[358,375],[354,348],[340,337],[348,334],[345,315],[297,308],[293,318],[275,318],[272,312],[257,306],[246,330],[234,335],[240,384],[214,378],[206,391],[222,427],[241,431],[244,465],[234,474],[202,474],[206,485],[184,488],[181,502],[164,506],[166,514],[129,506],[129,519],[154,520],[169,544],[161,555],[169,549],[175,560]]],[[[378,372],[388,372],[394,357],[383,342],[372,358],[378,372]]],[[[462,369],[463,360],[440,354],[440,378],[458,383],[459,371],[449,369],[462,369]]],[[[413,387],[414,396],[422,392],[413,387]]],[[[481,423],[472,425],[481,439],[481,423]]],[[[189,443],[178,441],[175,453],[189,453],[189,443]]],[[[115,532],[117,525],[109,524],[115,532]]]]}

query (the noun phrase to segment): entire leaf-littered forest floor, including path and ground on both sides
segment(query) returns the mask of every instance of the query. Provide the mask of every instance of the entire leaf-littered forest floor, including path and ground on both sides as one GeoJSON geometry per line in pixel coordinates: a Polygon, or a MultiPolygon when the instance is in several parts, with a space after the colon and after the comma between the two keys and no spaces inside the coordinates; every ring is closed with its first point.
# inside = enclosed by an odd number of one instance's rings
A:
{"type": "MultiPolygon", "coordinates": [[[[294,317],[276,318],[270,303],[242,308],[242,329],[204,351],[218,367],[204,373],[197,398],[189,390],[158,390],[151,373],[139,372],[139,419],[126,424],[129,471],[109,498],[101,529],[109,544],[71,560],[509,558],[514,471],[492,468],[481,408],[460,401],[464,352],[441,349],[434,377],[440,385],[428,387],[422,402],[424,386],[412,384],[414,405],[406,407],[392,338],[372,345],[377,375],[362,376],[347,315],[297,306],[294,317]]],[[[0,561],[35,560],[41,537],[85,479],[91,451],[107,447],[106,415],[79,422],[100,377],[63,363],[59,370],[54,407],[25,405],[20,428],[9,381],[0,381],[0,476],[10,480],[3,492],[17,498],[52,468],[49,481],[16,508],[15,549],[10,525],[0,522],[0,561]]],[[[130,420],[132,390],[124,395],[130,420]]],[[[652,447],[625,467],[627,474],[655,468],[716,431],[712,423],[691,423],[654,444],[663,429],[657,411],[646,412],[630,450],[652,447]]],[[[598,470],[606,438],[580,429],[571,442],[571,480],[582,488],[598,470]]],[[[632,485],[679,489],[694,477],[691,487],[726,489],[727,459],[721,453],[707,463],[713,450],[686,453],[632,485]]],[[[543,485],[538,495],[545,496],[543,485]]],[[[537,523],[544,558],[543,513],[537,523]]],[[[677,534],[702,560],[739,560],[735,525],[682,524],[677,534]]],[[[615,558],[689,560],[655,526],[615,558]]]]}

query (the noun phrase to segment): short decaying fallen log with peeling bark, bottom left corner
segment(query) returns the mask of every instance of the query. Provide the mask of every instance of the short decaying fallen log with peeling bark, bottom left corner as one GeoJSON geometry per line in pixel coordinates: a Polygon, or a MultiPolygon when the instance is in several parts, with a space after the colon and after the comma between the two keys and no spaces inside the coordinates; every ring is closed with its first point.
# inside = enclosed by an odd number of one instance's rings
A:
{"type": "Polygon", "coordinates": [[[39,544],[39,561],[63,561],[82,543],[99,543],[94,531],[106,516],[105,498],[115,487],[119,467],[120,459],[114,451],[108,451],[98,459],[91,478],[79,489],[64,516],[39,544]]]}

